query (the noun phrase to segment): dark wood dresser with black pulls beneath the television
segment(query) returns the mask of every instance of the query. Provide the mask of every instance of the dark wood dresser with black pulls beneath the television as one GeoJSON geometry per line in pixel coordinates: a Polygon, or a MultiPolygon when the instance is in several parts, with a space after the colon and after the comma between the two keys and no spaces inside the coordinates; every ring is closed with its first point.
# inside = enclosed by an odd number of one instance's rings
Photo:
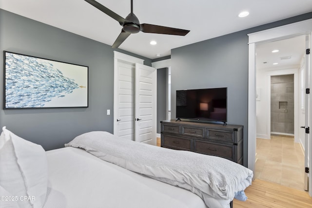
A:
{"type": "Polygon", "coordinates": [[[243,165],[243,126],[160,121],[161,147],[215,155],[243,165]]]}

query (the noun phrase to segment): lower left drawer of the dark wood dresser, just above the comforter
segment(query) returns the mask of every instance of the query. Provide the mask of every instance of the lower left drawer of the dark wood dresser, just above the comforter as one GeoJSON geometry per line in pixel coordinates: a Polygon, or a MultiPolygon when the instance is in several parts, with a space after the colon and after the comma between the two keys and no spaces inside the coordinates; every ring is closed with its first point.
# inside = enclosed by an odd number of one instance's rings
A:
{"type": "Polygon", "coordinates": [[[162,146],[169,148],[176,149],[176,150],[188,150],[191,151],[192,148],[192,141],[191,139],[187,138],[179,138],[170,135],[163,135],[162,136],[162,146]]]}

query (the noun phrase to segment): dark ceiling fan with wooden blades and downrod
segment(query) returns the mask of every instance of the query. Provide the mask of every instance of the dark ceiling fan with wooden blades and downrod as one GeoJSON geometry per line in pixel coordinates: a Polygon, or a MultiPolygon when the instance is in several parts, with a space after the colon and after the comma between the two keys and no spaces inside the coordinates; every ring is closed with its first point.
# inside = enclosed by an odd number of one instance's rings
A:
{"type": "Polygon", "coordinates": [[[112,48],[118,48],[119,45],[121,45],[121,43],[126,38],[128,38],[131,34],[138,33],[139,31],[142,31],[143,33],[156,33],[176,36],[185,36],[190,32],[189,30],[159,26],[154,24],[145,24],[145,23],[140,24],[140,22],[137,19],[137,16],[133,13],[133,0],[131,0],[131,13],[125,19],[95,0],[85,0],[85,1],[87,1],[94,7],[98,8],[111,18],[116,19],[122,26],[121,33],[115,40],[114,44],[112,45],[112,48]]]}

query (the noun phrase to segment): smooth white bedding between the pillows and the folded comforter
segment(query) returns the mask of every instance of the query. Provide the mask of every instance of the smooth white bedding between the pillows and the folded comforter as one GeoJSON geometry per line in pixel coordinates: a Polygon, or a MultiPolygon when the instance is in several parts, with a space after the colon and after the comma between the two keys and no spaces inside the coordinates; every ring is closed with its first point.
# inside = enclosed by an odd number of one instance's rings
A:
{"type": "MultiPolygon", "coordinates": [[[[49,182],[44,208],[206,208],[189,190],[123,169],[84,150],[66,147],[46,153],[49,182]]],[[[211,205],[221,206],[215,199],[211,205]]]]}

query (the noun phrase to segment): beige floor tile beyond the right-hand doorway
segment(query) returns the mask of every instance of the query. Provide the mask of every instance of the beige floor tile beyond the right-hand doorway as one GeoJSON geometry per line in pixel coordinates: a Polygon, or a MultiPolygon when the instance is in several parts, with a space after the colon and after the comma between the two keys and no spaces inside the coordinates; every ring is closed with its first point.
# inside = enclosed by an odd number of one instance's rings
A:
{"type": "Polygon", "coordinates": [[[294,138],[257,138],[256,152],[255,178],[304,190],[304,153],[294,138]]]}

